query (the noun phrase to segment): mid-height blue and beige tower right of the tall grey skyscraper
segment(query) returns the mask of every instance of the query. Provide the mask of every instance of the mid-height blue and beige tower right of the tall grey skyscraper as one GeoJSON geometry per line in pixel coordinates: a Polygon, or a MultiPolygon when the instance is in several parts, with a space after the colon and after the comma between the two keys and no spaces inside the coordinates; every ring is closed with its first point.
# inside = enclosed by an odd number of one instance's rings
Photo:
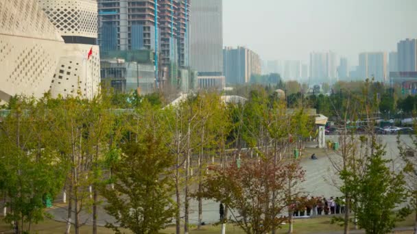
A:
{"type": "Polygon", "coordinates": [[[226,47],[223,50],[223,68],[226,83],[248,83],[252,75],[261,75],[261,59],[245,47],[226,47]]]}

